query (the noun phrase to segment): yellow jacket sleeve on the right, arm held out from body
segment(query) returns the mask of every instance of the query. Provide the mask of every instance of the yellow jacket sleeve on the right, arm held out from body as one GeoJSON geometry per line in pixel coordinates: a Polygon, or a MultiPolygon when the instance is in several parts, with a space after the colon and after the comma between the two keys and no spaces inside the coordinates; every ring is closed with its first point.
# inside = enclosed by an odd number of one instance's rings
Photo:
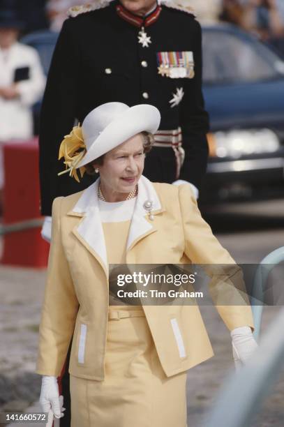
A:
{"type": "Polygon", "coordinates": [[[211,278],[209,292],[223,322],[230,331],[243,326],[253,329],[253,315],[241,268],[203,220],[188,184],[179,186],[179,203],[185,253],[193,264],[201,264],[211,278]]]}

